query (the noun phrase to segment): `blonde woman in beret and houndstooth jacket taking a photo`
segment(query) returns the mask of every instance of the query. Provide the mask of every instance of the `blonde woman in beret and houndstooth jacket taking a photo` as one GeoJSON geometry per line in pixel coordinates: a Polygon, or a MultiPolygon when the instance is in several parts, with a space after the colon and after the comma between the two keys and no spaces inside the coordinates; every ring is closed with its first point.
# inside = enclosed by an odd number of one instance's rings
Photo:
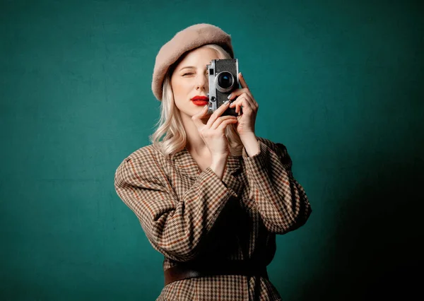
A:
{"type": "Polygon", "coordinates": [[[165,256],[157,300],[281,300],[266,273],[276,234],[312,212],[285,146],[255,135],[259,105],[241,73],[213,114],[195,100],[208,94],[206,64],[230,58],[230,35],[213,25],[167,42],[153,71],[158,129],[116,171],[117,194],[165,256]],[[239,115],[222,116],[228,107],[239,115]]]}

